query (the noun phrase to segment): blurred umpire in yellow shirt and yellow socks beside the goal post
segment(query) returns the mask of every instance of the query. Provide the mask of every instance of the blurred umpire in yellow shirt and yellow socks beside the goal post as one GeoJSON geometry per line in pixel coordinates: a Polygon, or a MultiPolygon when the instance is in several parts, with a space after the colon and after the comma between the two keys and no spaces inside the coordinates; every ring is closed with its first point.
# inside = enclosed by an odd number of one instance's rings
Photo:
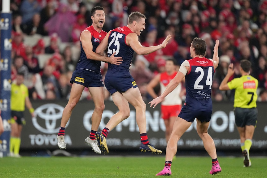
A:
{"type": "Polygon", "coordinates": [[[16,80],[11,84],[11,133],[10,133],[10,156],[20,157],[20,135],[22,125],[26,124],[23,112],[25,105],[34,116],[34,109],[29,99],[28,88],[23,84],[24,73],[17,73],[16,80]]]}

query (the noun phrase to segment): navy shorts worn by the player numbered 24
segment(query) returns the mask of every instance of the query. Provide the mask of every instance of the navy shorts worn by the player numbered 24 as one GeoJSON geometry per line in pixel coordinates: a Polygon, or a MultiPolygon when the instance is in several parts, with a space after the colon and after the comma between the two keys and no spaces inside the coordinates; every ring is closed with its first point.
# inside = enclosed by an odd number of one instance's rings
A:
{"type": "Polygon", "coordinates": [[[211,119],[212,111],[198,111],[183,106],[178,117],[185,119],[188,122],[194,122],[195,118],[199,119],[200,122],[209,122],[211,119]]]}

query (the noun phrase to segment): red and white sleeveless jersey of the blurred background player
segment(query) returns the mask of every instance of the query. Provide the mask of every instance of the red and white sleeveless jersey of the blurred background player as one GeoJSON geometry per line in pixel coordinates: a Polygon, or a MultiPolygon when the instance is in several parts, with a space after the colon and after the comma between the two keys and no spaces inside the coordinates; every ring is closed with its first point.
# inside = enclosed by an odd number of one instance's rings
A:
{"type": "MultiPolygon", "coordinates": [[[[160,74],[160,91],[164,92],[167,85],[170,81],[176,76],[177,72],[174,72],[172,75],[168,75],[167,72],[163,72],[160,74]]],[[[173,106],[173,105],[181,105],[182,99],[180,98],[180,93],[182,89],[182,84],[180,83],[171,93],[169,93],[164,100],[161,102],[161,105],[164,106],[173,106]]]]}

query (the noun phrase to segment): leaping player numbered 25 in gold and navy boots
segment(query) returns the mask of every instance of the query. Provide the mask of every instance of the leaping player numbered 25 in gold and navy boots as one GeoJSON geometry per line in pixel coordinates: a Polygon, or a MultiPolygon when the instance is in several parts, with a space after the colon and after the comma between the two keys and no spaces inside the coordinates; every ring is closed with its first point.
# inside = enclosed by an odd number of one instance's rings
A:
{"type": "Polygon", "coordinates": [[[109,131],[129,117],[129,103],[136,110],[136,122],[141,137],[139,149],[143,152],[162,153],[161,150],[155,149],[154,145],[148,141],[146,104],[142,99],[134,78],[130,75],[129,67],[134,52],[138,55],[143,55],[162,49],[167,45],[171,35],[168,35],[158,46],[143,47],[138,41],[138,36],[145,29],[145,19],[146,16],[140,12],[132,12],[128,18],[128,25],[109,31],[96,49],[98,54],[103,54],[104,50],[108,48],[107,53],[109,56],[115,52],[114,56],[120,56],[123,59],[119,66],[109,63],[105,77],[105,86],[112,95],[113,102],[118,107],[119,112],[111,117],[102,132],[96,133],[98,146],[104,154],[108,153],[106,137],[109,131]]]}

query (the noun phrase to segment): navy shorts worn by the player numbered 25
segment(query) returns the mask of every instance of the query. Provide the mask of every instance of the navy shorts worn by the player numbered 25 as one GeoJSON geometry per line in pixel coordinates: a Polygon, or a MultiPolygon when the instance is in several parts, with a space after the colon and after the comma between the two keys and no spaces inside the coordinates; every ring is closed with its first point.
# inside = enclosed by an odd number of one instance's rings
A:
{"type": "Polygon", "coordinates": [[[130,88],[138,87],[134,78],[131,75],[128,76],[106,76],[105,86],[110,94],[115,92],[123,93],[130,88]]]}

